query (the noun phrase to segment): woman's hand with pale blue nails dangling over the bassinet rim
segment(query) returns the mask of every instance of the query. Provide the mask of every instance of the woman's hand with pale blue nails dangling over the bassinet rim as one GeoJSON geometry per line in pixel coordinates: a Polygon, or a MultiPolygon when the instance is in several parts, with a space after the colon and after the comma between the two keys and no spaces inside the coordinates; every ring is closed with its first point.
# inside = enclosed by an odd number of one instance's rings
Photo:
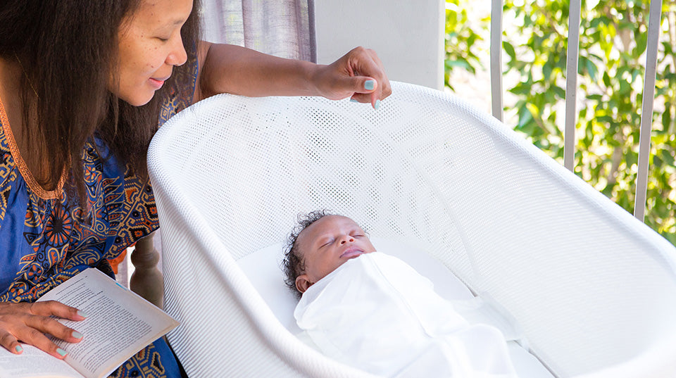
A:
{"type": "Polygon", "coordinates": [[[380,100],[392,94],[387,75],[375,51],[357,47],[330,65],[318,68],[313,78],[321,96],[354,101],[378,107],[380,100]]]}

